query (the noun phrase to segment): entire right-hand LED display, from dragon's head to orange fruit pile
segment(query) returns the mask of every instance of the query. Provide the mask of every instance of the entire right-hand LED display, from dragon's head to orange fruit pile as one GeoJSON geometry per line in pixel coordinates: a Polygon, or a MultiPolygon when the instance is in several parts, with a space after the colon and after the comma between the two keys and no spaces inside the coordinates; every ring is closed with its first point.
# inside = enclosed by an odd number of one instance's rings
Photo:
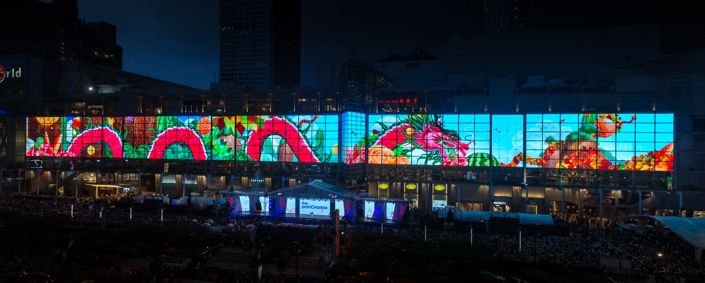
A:
{"type": "Polygon", "coordinates": [[[673,114],[369,115],[368,121],[370,164],[673,171],[673,114]]]}

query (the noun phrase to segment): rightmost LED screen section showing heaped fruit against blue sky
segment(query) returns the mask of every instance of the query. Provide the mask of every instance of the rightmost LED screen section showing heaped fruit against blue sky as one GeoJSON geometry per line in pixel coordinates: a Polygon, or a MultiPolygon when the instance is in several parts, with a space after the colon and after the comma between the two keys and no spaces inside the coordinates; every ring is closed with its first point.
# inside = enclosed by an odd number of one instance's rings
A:
{"type": "Polygon", "coordinates": [[[673,171],[673,114],[530,114],[527,167],[673,171]]]}

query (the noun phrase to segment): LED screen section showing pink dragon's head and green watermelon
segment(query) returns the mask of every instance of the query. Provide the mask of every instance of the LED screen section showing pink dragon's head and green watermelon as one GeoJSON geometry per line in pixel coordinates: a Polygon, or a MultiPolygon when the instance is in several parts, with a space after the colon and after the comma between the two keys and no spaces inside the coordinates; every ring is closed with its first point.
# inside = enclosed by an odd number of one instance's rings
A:
{"type": "Polygon", "coordinates": [[[490,115],[369,115],[368,163],[489,166],[490,115]]]}

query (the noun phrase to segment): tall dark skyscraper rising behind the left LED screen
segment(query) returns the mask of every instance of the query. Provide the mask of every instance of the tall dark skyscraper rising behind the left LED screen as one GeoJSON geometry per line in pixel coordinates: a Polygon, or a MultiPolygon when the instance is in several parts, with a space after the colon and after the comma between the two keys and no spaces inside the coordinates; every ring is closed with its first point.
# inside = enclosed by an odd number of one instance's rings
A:
{"type": "Polygon", "coordinates": [[[301,3],[220,1],[220,78],[250,89],[298,86],[301,3]]]}

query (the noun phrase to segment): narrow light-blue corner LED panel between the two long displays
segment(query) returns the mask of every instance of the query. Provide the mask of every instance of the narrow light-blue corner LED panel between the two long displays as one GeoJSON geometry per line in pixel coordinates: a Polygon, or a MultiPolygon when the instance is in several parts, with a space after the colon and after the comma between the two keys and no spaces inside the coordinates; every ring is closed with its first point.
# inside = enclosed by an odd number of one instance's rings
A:
{"type": "Polygon", "coordinates": [[[364,113],[345,112],[342,115],[341,135],[343,163],[345,164],[364,163],[365,148],[367,147],[364,139],[364,118],[364,113]]]}

